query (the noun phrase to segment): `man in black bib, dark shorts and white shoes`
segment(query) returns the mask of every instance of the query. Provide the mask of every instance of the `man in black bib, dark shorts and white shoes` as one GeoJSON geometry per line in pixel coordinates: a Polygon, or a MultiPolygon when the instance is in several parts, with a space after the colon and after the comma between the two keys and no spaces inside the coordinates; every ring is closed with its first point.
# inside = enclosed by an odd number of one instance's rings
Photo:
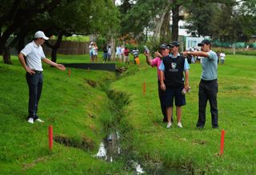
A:
{"type": "Polygon", "coordinates": [[[186,105],[185,95],[182,94],[182,89],[188,90],[189,86],[189,69],[190,66],[187,59],[178,53],[179,43],[171,42],[172,53],[169,56],[162,58],[162,63],[159,66],[161,70],[160,83],[162,90],[166,91],[166,115],[168,123],[166,128],[172,125],[170,117],[173,113],[173,103],[175,99],[178,128],[182,128],[182,105],[186,105]],[[185,80],[183,72],[185,72],[185,80]],[[185,85],[184,85],[185,81],[185,85]]]}

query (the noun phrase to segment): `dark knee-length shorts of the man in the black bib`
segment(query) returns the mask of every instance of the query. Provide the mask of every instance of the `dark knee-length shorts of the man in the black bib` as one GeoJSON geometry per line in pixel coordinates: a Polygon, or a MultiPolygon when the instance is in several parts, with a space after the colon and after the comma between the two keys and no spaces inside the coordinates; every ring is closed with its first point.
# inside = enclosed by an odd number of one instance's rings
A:
{"type": "Polygon", "coordinates": [[[186,97],[182,95],[182,87],[166,88],[166,107],[174,106],[174,99],[176,106],[186,105],[186,97]]]}

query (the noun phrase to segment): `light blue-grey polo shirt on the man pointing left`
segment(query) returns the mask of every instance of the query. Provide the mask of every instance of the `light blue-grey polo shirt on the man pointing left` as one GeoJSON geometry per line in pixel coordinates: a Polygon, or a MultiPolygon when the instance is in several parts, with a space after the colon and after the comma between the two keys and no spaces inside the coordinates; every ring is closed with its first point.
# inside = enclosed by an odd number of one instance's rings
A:
{"type": "Polygon", "coordinates": [[[217,79],[218,74],[218,56],[213,51],[208,52],[209,58],[202,57],[202,75],[203,80],[217,79]]]}

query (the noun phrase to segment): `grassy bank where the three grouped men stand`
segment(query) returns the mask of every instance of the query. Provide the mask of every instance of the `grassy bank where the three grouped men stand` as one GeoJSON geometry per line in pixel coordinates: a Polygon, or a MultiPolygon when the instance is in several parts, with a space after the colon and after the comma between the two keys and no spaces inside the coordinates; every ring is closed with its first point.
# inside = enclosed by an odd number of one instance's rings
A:
{"type": "MultiPolygon", "coordinates": [[[[166,129],[158,101],[156,70],[141,66],[137,73],[122,78],[111,89],[126,92],[130,104],[122,129],[126,133],[127,149],[134,149],[142,161],[150,164],[179,167],[196,174],[254,174],[256,173],[255,87],[256,59],[250,56],[228,55],[224,65],[218,66],[219,129],[212,129],[210,109],[206,109],[206,127],[195,127],[198,119],[198,82],[201,65],[190,65],[191,93],[186,95],[183,107],[183,129],[177,122],[166,129]],[[146,82],[146,95],[142,84],[146,82]],[[221,130],[225,129],[224,155],[219,157],[221,130]]],[[[174,117],[176,118],[176,116],[174,117]]]]}

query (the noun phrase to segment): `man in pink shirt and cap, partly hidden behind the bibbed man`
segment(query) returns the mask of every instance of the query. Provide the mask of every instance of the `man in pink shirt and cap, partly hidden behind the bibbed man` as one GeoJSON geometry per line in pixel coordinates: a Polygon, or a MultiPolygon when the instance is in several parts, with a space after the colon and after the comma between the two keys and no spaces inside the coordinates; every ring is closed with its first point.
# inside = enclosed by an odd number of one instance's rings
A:
{"type": "MultiPolygon", "coordinates": [[[[161,89],[160,86],[160,70],[159,70],[159,66],[162,62],[162,57],[166,57],[169,55],[170,53],[170,46],[167,44],[162,44],[159,49],[161,50],[161,54],[158,52],[155,52],[156,58],[154,58],[153,60],[151,59],[150,53],[144,52],[145,56],[146,56],[146,62],[148,65],[152,66],[152,67],[157,67],[158,68],[158,97],[160,100],[160,105],[161,105],[161,109],[162,109],[162,121],[163,122],[167,122],[167,117],[166,117],[166,98],[165,98],[165,91],[163,91],[161,89]]],[[[173,117],[171,117],[171,121],[173,122],[173,117]]]]}

